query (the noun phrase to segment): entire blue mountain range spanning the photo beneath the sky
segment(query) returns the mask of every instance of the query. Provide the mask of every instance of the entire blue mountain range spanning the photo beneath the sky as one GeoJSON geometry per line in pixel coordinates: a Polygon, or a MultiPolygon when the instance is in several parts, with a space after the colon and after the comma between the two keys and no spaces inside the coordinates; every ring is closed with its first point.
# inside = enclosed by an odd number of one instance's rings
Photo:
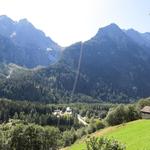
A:
{"type": "Polygon", "coordinates": [[[116,24],[110,24],[100,28],[88,41],[75,43],[61,51],[58,44],[45,37],[42,31],[35,29],[27,20],[17,23],[5,20],[8,25],[6,30],[2,20],[0,50],[4,50],[6,55],[0,53],[1,68],[5,70],[5,73],[0,72],[1,97],[49,102],[131,102],[150,96],[150,33],[123,30],[116,24]],[[51,61],[43,60],[46,56],[50,60],[49,55],[52,55],[47,54],[47,47],[53,47],[56,54],[51,61]],[[22,57],[18,51],[24,51],[26,57],[22,57]],[[36,58],[34,63],[27,60],[32,60],[32,57],[36,58]],[[6,67],[6,62],[30,69],[12,64],[6,67]],[[31,69],[38,65],[46,67],[31,69]]]}

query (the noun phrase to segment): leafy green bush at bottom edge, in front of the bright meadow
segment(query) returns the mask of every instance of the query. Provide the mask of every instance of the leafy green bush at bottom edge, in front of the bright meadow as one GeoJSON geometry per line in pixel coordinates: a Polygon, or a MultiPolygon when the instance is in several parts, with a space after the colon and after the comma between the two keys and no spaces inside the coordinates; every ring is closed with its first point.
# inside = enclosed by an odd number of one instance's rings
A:
{"type": "Polygon", "coordinates": [[[86,150],[125,150],[125,146],[115,139],[91,138],[86,141],[86,150]]]}

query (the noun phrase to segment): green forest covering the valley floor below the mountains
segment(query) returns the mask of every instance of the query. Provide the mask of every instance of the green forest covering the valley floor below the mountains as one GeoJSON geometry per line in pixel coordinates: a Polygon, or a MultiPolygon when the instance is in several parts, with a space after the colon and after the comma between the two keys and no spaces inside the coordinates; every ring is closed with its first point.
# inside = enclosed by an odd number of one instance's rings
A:
{"type": "Polygon", "coordinates": [[[14,150],[48,148],[57,150],[105,127],[140,119],[140,109],[146,105],[150,105],[149,99],[141,99],[128,105],[110,103],[56,105],[1,99],[0,147],[4,150],[10,150],[12,147],[14,150]],[[65,113],[54,115],[55,110],[65,112],[67,107],[72,109],[71,115],[65,113]],[[78,114],[84,118],[88,126],[79,122],[78,114]]]}

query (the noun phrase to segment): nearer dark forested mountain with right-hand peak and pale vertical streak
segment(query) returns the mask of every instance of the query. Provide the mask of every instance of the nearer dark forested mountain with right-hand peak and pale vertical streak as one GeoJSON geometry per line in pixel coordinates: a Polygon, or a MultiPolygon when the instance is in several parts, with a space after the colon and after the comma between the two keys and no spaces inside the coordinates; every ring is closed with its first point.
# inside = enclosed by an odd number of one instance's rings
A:
{"type": "Polygon", "coordinates": [[[67,47],[56,64],[3,80],[0,96],[50,102],[131,102],[150,95],[149,64],[148,47],[111,24],[90,40],[67,47]]]}

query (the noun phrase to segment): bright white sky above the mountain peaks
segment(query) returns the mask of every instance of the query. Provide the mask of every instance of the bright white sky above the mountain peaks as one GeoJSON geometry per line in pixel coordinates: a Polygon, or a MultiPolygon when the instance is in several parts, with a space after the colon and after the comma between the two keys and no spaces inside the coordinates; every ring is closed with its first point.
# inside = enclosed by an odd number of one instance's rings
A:
{"type": "Polygon", "coordinates": [[[0,0],[0,15],[27,18],[61,46],[86,41],[110,23],[150,32],[150,0],[0,0]]]}

